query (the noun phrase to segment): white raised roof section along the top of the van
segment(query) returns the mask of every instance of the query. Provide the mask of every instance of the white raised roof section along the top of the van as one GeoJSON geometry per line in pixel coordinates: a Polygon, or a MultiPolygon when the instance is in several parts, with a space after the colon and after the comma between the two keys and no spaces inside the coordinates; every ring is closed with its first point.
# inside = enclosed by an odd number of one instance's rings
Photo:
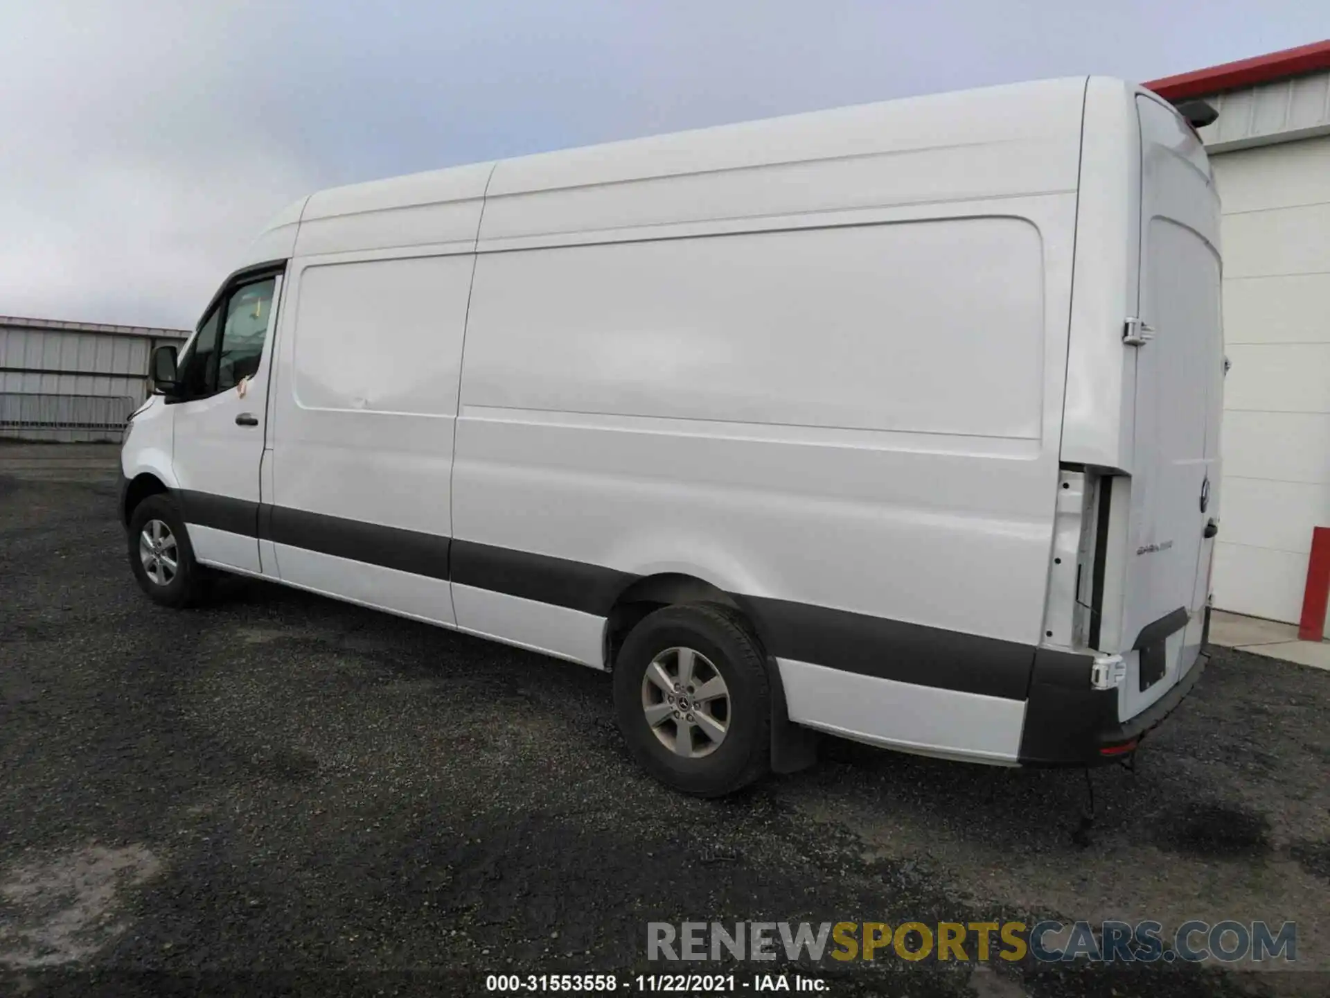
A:
{"type": "MultiPolygon", "coordinates": [[[[1124,104],[1138,89],[1089,83],[1124,104]]],[[[908,97],[331,188],[274,218],[245,262],[1063,194],[1077,185],[1087,84],[908,97]]]]}

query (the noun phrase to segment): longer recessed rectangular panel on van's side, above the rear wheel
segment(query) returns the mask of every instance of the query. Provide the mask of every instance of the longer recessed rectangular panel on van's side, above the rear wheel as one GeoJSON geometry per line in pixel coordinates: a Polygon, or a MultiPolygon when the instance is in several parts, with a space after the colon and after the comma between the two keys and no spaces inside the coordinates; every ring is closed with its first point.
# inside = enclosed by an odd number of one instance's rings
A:
{"type": "Polygon", "coordinates": [[[463,401],[1033,452],[1043,313],[1020,218],[484,254],[463,401]]]}

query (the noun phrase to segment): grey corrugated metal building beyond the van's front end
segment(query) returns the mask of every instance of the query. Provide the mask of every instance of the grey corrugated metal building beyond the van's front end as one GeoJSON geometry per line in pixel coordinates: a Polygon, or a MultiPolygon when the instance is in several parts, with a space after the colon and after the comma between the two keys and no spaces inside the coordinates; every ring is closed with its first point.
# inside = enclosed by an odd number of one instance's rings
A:
{"type": "Polygon", "coordinates": [[[148,398],[148,358],[189,330],[0,315],[0,436],[118,440],[148,398]]]}

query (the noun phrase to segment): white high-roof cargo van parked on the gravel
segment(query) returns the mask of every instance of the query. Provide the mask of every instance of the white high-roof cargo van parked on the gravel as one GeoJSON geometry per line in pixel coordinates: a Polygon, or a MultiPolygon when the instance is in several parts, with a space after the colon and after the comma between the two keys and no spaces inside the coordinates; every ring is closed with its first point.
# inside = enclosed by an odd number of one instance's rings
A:
{"type": "Polygon", "coordinates": [[[609,669],[693,793],[1111,760],[1204,665],[1218,230],[1099,77],[313,194],[156,354],[129,560],[609,669]]]}

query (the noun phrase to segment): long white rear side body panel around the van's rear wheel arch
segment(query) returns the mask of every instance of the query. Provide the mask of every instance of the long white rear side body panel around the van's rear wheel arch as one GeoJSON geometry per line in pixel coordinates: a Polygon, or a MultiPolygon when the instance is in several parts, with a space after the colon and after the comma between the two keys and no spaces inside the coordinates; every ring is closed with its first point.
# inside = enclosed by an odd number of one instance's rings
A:
{"type": "MultiPolygon", "coordinates": [[[[817,677],[787,688],[791,717],[1013,760],[1052,539],[1073,198],[947,209],[481,251],[455,552],[529,556],[552,574],[544,599],[577,615],[613,603],[610,580],[573,605],[601,585],[579,572],[700,578],[774,635],[782,675],[817,677]],[[829,695],[826,675],[846,687],[829,695]],[[855,684],[896,709],[855,709],[855,684]],[[939,713],[948,696],[972,701],[939,713]],[[900,736],[915,708],[932,727],[900,736]]],[[[460,627],[483,568],[455,554],[460,627]]],[[[532,593],[485,591],[476,629],[517,627],[532,593]]],[[[531,643],[579,657],[548,639],[531,643]]]]}

